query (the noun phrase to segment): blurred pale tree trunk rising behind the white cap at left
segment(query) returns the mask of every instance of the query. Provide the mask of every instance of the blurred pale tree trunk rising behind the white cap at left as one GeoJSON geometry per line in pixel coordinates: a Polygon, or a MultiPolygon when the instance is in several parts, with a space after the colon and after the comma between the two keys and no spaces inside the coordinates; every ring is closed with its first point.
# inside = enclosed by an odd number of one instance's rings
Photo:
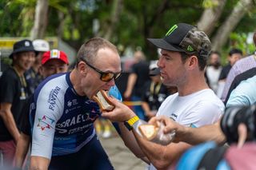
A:
{"type": "Polygon", "coordinates": [[[38,0],[34,14],[34,26],[31,30],[30,37],[32,40],[43,38],[47,26],[48,0],[38,0]]]}

